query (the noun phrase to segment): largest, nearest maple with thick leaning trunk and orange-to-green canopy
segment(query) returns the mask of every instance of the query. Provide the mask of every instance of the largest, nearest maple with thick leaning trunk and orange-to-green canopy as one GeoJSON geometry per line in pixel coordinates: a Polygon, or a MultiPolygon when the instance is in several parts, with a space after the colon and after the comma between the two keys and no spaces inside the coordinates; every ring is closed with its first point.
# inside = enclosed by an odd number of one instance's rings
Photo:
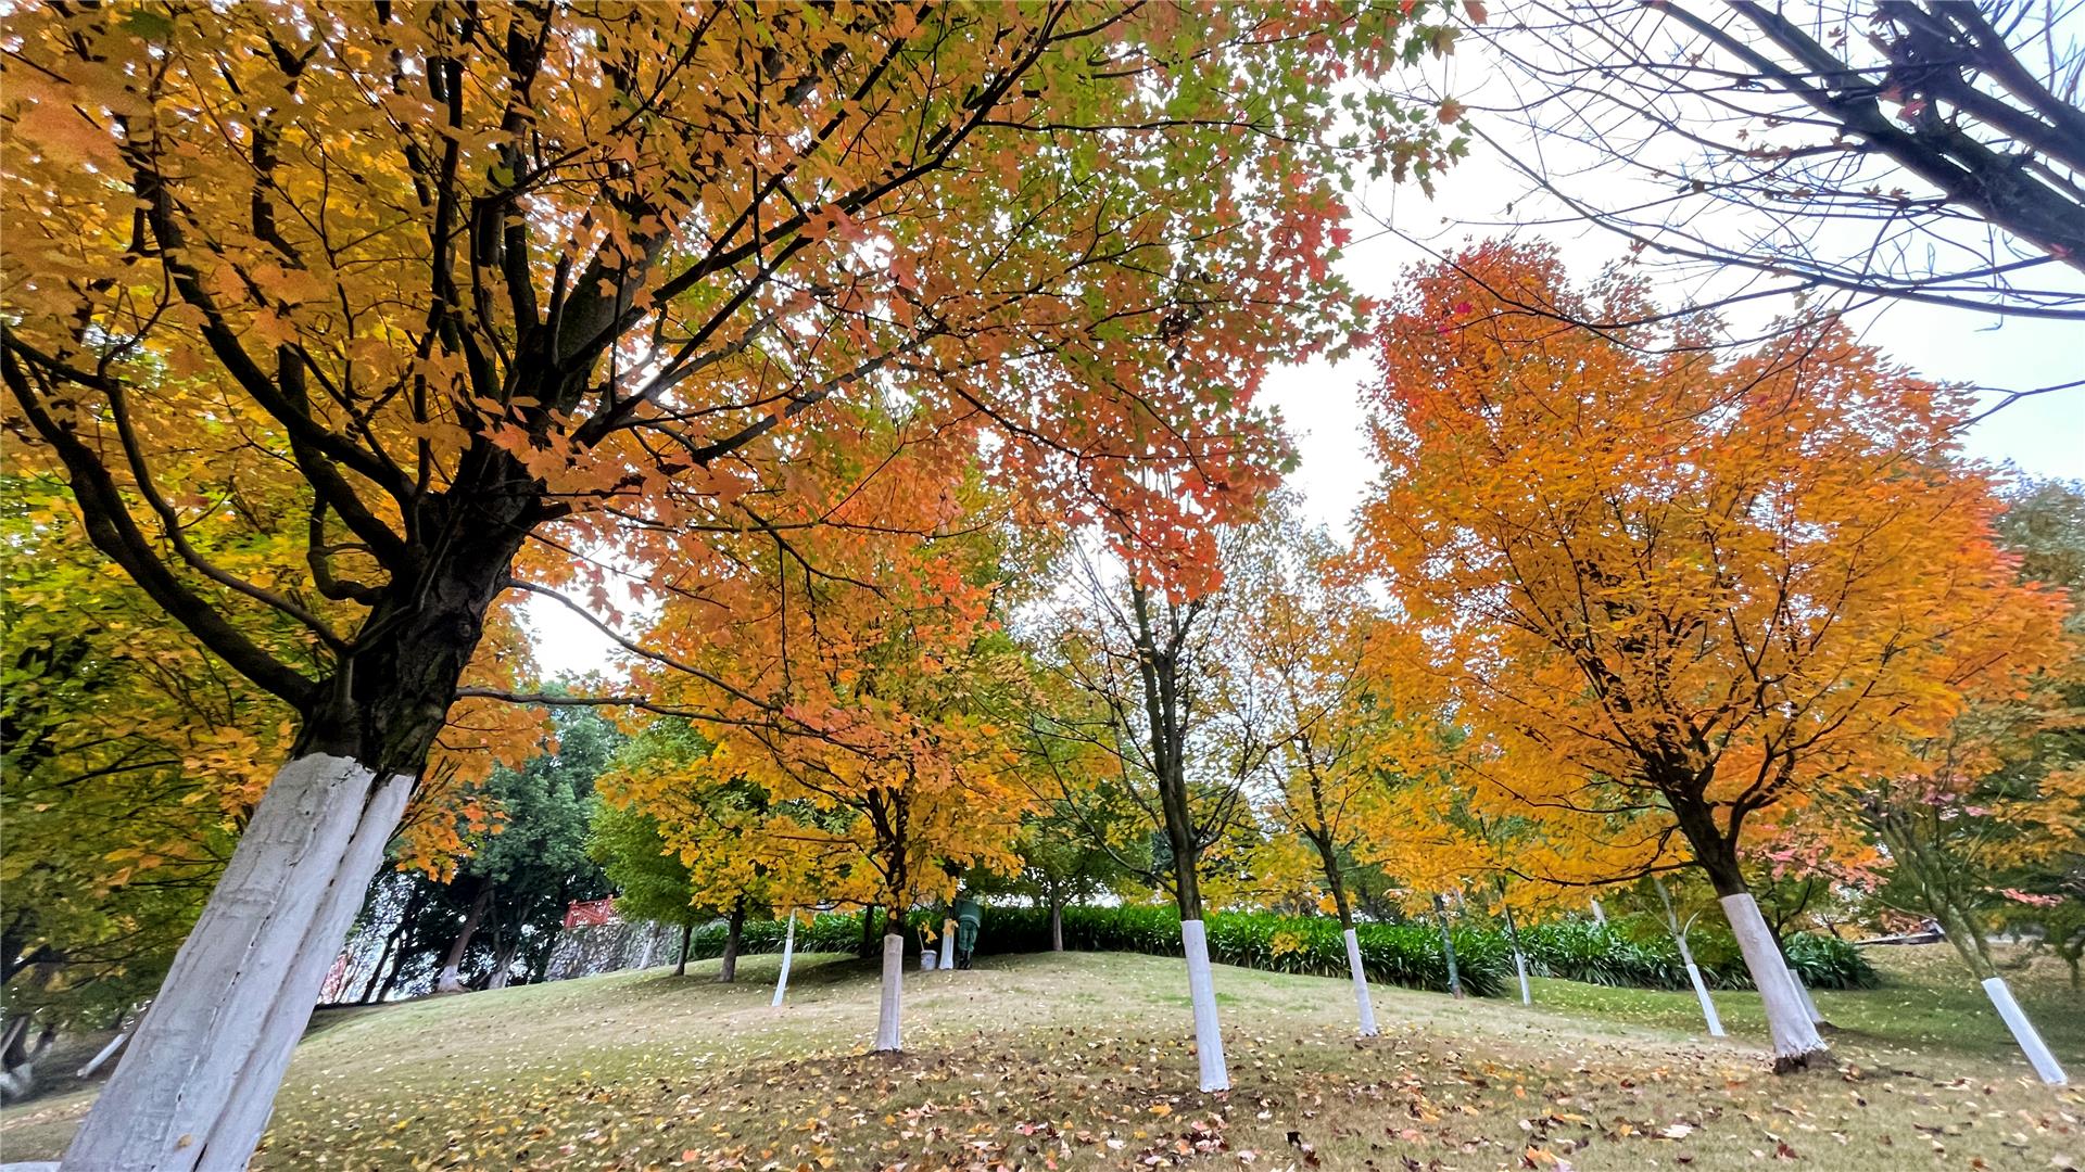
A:
{"type": "Polygon", "coordinates": [[[19,13],[8,459],[63,471],[94,546],[298,713],[73,1159],[242,1155],[450,705],[513,694],[496,607],[671,592],[776,515],[828,407],[990,436],[1034,515],[1191,576],[1272,475],[1261,371],[1345,304],[1336,175],[1449,156],[1370,81],[1424,19],[19,13]],[[277,540],[186,540],[225,503],[277,540]],[[256,638],[286,619],[294,655],[256,638]]]}

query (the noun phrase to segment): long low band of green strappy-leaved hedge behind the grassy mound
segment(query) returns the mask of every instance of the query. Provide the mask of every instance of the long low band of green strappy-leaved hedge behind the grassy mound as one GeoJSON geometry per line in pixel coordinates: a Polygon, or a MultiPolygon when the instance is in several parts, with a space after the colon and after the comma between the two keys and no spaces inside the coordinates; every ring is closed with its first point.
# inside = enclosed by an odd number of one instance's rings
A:
{"type": "MultiPolygon", "coordinates": [[[[928,911],[907,918],[907,941],[917,945],[928,911]]],[[[1205,920],[1209,959],[1268,972],[1347,976],[1347,943],[1339,922],[1320,915],[1274,915],[1270,911],[1220,911],[1205,920]]],[[[1566,920],[1522,928],[1528,966],[1543,976],[1635,988],[1687,988],[1678,947],[1662,932],[1647,934],[1651,922],[1566,920]]],[[[782,922],[755,920],[744,928],[742,953],[780,953],[782,922]]],[[[1447,957],[1432,924],[1362,924],[1362,968],[1368,978],[1407,988],[1447,988],[1447,957]]],[[[1514,951],[1505,932],[1457,926],[1455,968],[1468,993],[1497,997],[1514,984],[1514,951]]],[[[861,915],[824,913],[796,926],[796,947],[807,953],[851,953],[861,947],[861,915]]],[[[1088,953],[1180,955],[1180,913],[1172,907],[1065,907],[1063,947],[1088,953]]],[[[1689,936],[1701,976],[1716,988],[1751,988],[1728,934],[1689,936]]],[[[1049,951],[1049,911],[1042,907],[984,907],[978,953],[1049,951]]],[[[723,924],[694,932],[690,957],[723,955],[723,924]]],[[[1868,961],[1835,936],[1799,932],[1789,936],[1789,959],[1812,988],[1866,988],[1874,984],[1868,961]]]]}

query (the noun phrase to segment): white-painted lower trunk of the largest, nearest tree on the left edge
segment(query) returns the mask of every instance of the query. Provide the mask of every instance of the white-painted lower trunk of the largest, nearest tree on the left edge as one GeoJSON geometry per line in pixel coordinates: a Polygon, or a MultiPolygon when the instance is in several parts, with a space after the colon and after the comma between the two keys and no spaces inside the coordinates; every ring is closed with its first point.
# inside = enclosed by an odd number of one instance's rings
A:
{"type": "Polygon", "coordinates": [[[275,774],[63,1168],[246,1168],[411,788],[327,753],[275,774]]]}

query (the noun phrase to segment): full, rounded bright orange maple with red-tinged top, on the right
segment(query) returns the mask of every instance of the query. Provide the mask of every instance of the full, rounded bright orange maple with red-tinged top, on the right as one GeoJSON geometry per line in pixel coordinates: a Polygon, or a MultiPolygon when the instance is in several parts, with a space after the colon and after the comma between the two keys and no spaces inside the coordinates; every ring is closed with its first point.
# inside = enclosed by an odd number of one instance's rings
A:
{"type": "Polygon", "coordinates": [[[1574,290],[1530,246],[1414,273],[1378,329],[1359,548],[1495,751],[1478,784],[1641,830],[1637,874],[1685,847],[1801,1064],[1822,1041],[1747,890],[1747,832],[2010,692],[2062,601],[1993,542],[1991,482],[1952,440],[1964,392],[1835,323],[1731,357],[1687,317],[1574,325],[1647,304],[1624,275],[1574,290]]]}

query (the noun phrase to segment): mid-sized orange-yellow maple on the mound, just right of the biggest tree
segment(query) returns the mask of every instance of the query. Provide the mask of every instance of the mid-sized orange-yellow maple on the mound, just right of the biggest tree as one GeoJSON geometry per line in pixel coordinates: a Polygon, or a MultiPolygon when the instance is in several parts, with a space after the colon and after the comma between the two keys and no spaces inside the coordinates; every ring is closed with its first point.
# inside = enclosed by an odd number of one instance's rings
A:
{"type": "Polygon", "coordinates": [[[967,432],[844,413],[909,438],[867,484],[853,450],[801,459],[796,496],[828,523],[753,532],[684,567],[651,632],[671,659],[638,690],[703,713],[711,747],[630,770],[611,801],[659,817],[709,899],[882,907],[876,1049],[899,1049],[905,913],[953,897],[970,868],[1020,868],[1028,788],[995,717],[1026,684],[999,626],[1017,544],[967,432]]]}

